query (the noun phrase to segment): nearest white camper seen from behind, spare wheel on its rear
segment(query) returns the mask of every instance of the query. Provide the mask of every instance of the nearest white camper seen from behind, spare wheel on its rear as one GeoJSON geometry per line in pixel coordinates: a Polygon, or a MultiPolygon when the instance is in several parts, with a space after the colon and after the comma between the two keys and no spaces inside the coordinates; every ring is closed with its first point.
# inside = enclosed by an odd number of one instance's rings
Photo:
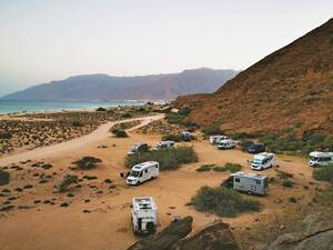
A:
{"type": "Polygon", "coordinates": [[[154,233],[158,224],[158,208],[151,197],[134,197],[132,199],[133,232],[154,233]]]}

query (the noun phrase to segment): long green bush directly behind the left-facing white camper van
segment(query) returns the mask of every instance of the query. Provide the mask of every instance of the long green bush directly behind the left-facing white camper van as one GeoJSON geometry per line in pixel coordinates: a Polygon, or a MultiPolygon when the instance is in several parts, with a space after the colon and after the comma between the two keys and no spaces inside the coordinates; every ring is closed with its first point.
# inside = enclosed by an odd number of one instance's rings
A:
{"type": "Polygon", "coordinates": [[[176,169],[180,164],[196,162],[198,156],[192,147],[178,147],[130,154],[125,157],[125,166],[132,167],[144,161],[158,161],[160,170],[176,169]]]}

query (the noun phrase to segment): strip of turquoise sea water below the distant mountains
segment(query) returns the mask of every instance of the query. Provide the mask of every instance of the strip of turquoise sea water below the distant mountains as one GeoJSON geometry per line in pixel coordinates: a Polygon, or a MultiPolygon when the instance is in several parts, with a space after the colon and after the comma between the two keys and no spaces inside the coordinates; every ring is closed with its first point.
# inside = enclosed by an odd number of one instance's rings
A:
{"type": "Polygon", "coordinates": [[[142,106],[145,101],[17,101],[0,100],[0,113],[80,110],[98,107],[142,106]]]}

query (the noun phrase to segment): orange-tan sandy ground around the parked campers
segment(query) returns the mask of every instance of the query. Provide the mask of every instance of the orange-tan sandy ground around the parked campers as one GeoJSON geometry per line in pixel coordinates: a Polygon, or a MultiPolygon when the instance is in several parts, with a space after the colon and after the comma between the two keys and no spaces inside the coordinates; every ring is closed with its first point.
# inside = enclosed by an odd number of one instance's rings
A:
{"type": "MultiPolygon", "coordinates": [[[[152,119],[151,117],[149,119],[152,119]]],[[[144,123],[150,122],[144,119],[144,123]]],[[[158,119],[155,117],[155,119],[158,119]]],[[[143,183],[139,187],[128,187],[119,173],[125,171],[123,159],[130,147],[139,141],[154,144],[160,136],[130,133],[129,138],[120,139],[108,136],[112,123],[100,127],[98,131],[75,139],[61,146],[52,146],[43,150],[22,153],[11,158],[2,159],[0,166],[22,160],[43,160],[53,164],[51,172],[57,172],[56,182],[61,176],[69,173],[67,169],[72,161],[83,156],[93,156],[103,160],[102,164],[89,174],[98,177],[97,184],[104,179],[112,179],[114,187],[102,194],[89,191],[89,188],[73,190],[73,198],[65,194],[52,193],[51,186],[37,186],[31,191],[22,194],[19,202],[33,203],[36,199],[57,199],[56,206],[40,204],[27,210],[12,210],[0,217],[0,246],[3,250],[121,250],[129,247],[138,238],[132,234],[130,223],[130,202],[134,196],[151,196],[158,204],[159,230],[168,226],[173,216],[193,216],[194,230],[211,222],[218,217],[200,213],[193,208],[185,206],[196,190],[202,186],[219,186],[221,180],[229,173],[221,172],[196,172],[195,169],[203,163],[238,162],[244,166],[244,171],[251,171],[248,160],[251,154],[240,150],[219,151],[208,141],[190,142],[199,154],[199,162],[182,166],[174,171],[164,171],[158,179],[143,183]],[[100,148],[105,146],[107,148],[100,148]],[[44,152],[44,153],[42,153],[44,152]],[[90,199],[89,203],[84,200],[90,199]],[[70,206],[59,207],[59,202],[67,201],[70,206]],[[89,210],[84,213],[83,210],[89,210]]],[[[279,157],[279,169],[294,174],[296,182],[293,189],[282,188],[281,183],[270,187],[266,197],[250,197],[259,200],[263,211],[259,213],[243,214],[238,218],[223,221],[231,223],[234,229],[255,223],[256,218],[263,218],[279,212],[285,207],[290,196],[296,197],[304,204],[313,197],[314,187],[312,181],[312,169],[306,166],[304,159],[295,157],[279,157]],[[309,186],[304,189],[304,186],[309,186]],[[281,202],[283,201],[283,202],[281,202]]],[[[22,166],[22,168],[28,168],[22,166]]],[[[28,171],[28,170],[27,170],[28,171]]],[[[84,172],[87,173],[87,171],[84,172]]],[[[265,170],[270,177],[276,176],[275,168],[265,170]]],[[[82,173],[83,174],[83,173],[82,173]]],[[[29,178],[16,180],[18,183],[27,183],[29,178]]],[[[94,183],[94,182],[93,182],[94,183]]],[[[16,183],[17,184],[17,183],[16,183]]],[[[102,186],[102,184],[101,184],[102,186]]],[[[16,186],[13,184],[12,188],[16,186]]]]}

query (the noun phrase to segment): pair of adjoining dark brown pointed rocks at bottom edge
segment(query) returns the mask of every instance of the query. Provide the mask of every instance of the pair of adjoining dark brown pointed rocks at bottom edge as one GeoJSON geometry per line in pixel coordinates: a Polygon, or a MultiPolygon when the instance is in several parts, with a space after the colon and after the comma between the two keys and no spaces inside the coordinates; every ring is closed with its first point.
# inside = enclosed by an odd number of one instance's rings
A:
{"type": "Polygon", "coordinates": [[[171,223],[155,236],[140,240],[128,250],[240,250],[229,224],[218,220],[185,238],[192,231],[192,217],[171,223]]]}

